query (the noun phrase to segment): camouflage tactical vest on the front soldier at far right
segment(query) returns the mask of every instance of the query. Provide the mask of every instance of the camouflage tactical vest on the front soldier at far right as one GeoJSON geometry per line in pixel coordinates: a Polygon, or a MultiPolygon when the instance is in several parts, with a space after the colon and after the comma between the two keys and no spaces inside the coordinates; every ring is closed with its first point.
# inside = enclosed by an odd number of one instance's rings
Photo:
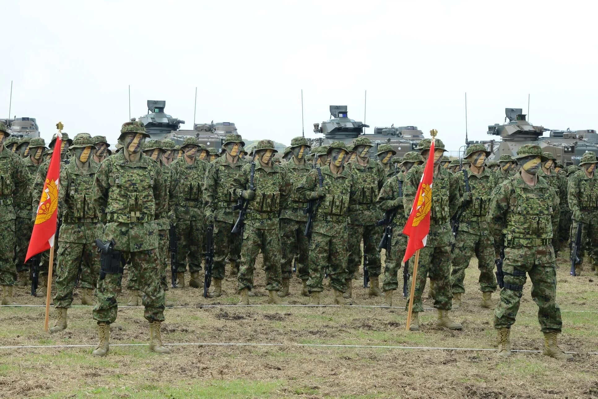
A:
{"type": "Polygon", "coordinates": [[[526,192],[510,183],[514,195],[509,200],[505,245],[507,247],[547,245],[553,238],[553,196],[549,187],[526,192]]]}

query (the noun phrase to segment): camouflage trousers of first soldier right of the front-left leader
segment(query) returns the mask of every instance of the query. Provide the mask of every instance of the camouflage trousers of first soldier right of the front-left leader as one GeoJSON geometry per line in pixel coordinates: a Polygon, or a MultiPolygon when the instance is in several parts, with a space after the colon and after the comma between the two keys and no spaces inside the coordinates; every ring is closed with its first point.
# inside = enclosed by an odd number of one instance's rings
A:
{"type": "Polygon", "coordinates": [[[176,253],[176,271],[187,270],[199,272],[202,269],[203,258],[203,223],[201,220],[176,219],[176,239],[178,248],[176,253]]]}

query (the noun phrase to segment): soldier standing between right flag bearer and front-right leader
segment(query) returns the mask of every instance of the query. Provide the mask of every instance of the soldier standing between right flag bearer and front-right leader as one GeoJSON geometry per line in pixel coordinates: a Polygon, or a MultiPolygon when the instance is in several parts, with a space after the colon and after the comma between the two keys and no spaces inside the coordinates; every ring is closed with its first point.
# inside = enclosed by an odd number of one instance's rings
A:
{"type": "Polygon", "coordinates": [[[465,158],[471,162],[469,168],[454,174],[459,182],[461,205],[454,219],[458,231],[455,236],[451,271],[453,309],[459,309],[461,306],[461,294],[465,293],[465,269],[468,268],[472,255],[477,257],[480,269],[480,306],[487,309],[496,307],[492,302],[492,293],[496,291],[495,246],[488,231],[486,214],[490,196],[498,185],[499,178],[496,173],[484,167],[486,157],[490,154],[483,144],[470,145],[465,152],[465,158]]]}

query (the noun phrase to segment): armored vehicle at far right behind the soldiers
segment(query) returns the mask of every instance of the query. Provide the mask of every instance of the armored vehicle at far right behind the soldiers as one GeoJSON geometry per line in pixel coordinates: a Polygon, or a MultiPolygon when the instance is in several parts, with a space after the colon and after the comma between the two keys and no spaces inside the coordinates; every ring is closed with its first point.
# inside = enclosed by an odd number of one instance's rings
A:
{"type": "Polygon", "coordinates": [[[557,162],[562,162],[563,165],[578,164],[586,151],[598,154],[598,134],[595,130],[563,131],[535,126],[526,120],[521,108],[506,108],[505,115],[507,117],[504,124],[488,127],[488,134],[500,136],[501,140],[481,142],[492,152],[490,159],[498,161],[502,154],[515,155],[520,146],[529,143],[538,144],[542,151],[553,153],[557,162]],[[549,136],[544,136],[545,131],[550,131],[549,136]]]}

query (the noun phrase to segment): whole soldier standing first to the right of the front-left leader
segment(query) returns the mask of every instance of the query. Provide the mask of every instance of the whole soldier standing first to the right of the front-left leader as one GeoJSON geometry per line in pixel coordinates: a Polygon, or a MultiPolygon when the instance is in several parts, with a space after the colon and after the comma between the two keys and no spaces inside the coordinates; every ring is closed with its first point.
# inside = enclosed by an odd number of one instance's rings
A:
{"type": "Polygon", "coordinates": [[[176,288],[185,286],[185,270],[189,263],[189,286],[203,287],[199,278],[203,254],[203,180],[208,165],[196,158],[197,151],[205,146],[197,137],[186,137],[181,146],[184,155],[170,164],[178,181],[178,201],[175,204],[176,238],[176,288]]]}

